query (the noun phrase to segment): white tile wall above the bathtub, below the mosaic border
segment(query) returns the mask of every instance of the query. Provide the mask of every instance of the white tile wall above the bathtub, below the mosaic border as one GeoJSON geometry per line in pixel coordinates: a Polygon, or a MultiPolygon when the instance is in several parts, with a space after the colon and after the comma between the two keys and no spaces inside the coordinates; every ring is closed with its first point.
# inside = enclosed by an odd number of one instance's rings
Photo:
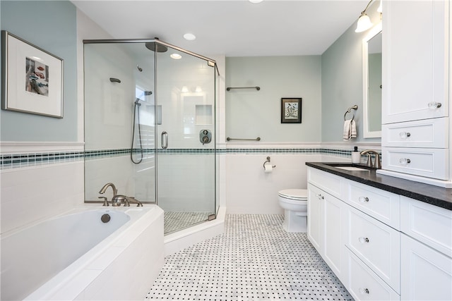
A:
{"type": "Polygon", "coordinates": [[[83,202],[83,161],[1,171],[1,233],[83,202]]]}

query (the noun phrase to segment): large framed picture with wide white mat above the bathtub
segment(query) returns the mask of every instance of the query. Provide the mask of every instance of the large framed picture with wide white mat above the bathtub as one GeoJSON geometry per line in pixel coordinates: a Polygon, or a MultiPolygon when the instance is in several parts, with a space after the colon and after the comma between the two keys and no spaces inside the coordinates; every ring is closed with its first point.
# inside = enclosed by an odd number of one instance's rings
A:
{"type": "Polygon", "coordinates": [[[1,31],[1,109],[63,118],[63,60],[1,31]]]}

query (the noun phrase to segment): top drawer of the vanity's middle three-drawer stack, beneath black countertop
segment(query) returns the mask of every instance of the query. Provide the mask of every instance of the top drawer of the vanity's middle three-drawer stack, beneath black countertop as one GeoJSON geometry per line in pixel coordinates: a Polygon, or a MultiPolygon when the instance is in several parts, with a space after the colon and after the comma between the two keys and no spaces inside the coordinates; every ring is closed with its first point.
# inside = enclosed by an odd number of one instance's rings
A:
{"type": "Polygon", "coordinates": [[[347,204],[400,230],[400,196],[369,185],[347,181],[347,204]]]}

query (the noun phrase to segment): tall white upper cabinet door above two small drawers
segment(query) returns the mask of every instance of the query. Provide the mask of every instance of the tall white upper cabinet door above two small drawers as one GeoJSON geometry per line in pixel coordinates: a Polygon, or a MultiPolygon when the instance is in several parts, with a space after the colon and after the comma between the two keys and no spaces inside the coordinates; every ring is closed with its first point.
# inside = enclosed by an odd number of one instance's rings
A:
{"type": "Polygon", "coordinates": [[[383,124],[448,116],[448,5],[385,1],[383,124]]]}

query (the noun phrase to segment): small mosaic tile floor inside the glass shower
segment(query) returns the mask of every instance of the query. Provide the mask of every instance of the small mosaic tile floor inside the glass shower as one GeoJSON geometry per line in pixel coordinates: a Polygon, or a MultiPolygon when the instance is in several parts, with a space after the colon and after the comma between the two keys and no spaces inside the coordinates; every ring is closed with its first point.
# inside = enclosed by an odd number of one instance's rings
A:
{"type": "Polygon", "coordinates": [[[163,217],[164,233],[178,231],[208,219],[213,212],[171,212],[165,211],[163,217]]]}

